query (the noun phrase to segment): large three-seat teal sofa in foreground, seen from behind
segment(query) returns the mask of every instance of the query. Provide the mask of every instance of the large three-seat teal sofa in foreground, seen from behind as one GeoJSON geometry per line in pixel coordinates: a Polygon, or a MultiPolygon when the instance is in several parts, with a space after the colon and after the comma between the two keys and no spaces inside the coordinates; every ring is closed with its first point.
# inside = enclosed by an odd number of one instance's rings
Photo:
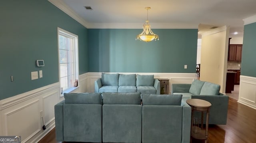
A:
{"type": "Polygon", "coordinates": [[[142,104],[140,93],[64,93],[64,97],[54,107],[56,141],[190,142],[191,107],[182,102],[182,95],[142,94],[142,104]]]}

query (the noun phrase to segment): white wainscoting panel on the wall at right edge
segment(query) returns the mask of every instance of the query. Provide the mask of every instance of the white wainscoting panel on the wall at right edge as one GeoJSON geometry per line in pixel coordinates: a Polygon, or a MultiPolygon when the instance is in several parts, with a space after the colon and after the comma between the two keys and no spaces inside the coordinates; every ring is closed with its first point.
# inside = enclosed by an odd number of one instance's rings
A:
{"type": "Polygon", "coordinates": [[[238,102],[256,109],[256,77],[240,75],[238,102]]]}

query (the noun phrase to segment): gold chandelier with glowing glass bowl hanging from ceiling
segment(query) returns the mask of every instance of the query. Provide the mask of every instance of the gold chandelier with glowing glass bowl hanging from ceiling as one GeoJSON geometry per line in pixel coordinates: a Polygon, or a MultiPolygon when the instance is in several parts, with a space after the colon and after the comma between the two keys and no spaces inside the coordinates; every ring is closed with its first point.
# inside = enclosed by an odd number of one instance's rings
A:
{"type": "Polygon", "coordinates": [[[145,8],[147,10],[147,20],[146,20],[146,23],[143,24],[142,28],[143,28],[143,31],[141,34],[137,35],[136,37],[136,40],[142,40],[142,41],[145,41],[145,42],[150,42],[152,40],[155,40],[158,39],[159,40],[159,37],[158,35],[154,34],[152,32],[152,30],[150,29],[150,24],[149,24],[149,20],[148,20],[148,10],[150,10],[150,7],[146,7],[145,8]]]}

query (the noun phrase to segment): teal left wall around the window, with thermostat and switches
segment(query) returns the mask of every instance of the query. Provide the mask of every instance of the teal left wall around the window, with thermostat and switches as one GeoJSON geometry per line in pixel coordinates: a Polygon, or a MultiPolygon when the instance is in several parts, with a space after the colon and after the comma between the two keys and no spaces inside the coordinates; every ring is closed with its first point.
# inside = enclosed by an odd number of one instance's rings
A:
{"type": "Polygon", "coordinates": [[[79,74],[88,72],[84,26],[48,0],[1,0],[0,100],[58,82],[57,27],[78,35],[79,74]],[[45,66],[36,67],[36,60],[45,66]],[[43,78],[31,80],[39,70],[43,78]]]}

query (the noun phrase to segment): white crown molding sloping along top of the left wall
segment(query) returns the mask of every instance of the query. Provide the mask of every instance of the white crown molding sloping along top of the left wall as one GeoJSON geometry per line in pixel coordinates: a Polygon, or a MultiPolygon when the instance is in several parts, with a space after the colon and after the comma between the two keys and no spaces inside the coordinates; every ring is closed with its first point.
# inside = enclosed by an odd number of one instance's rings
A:
{"type": "Polygon", "coordinates": [[[79,16],[74,10],[72,10],[67,4],[62,2],[61,0],[48,0],[51,2],[54,6],[68,14],[70,17],[72,17],[74,20],[82,24],[85,28],[89,27],[89,23],[86,22],[81,16],[79,16]]]}

